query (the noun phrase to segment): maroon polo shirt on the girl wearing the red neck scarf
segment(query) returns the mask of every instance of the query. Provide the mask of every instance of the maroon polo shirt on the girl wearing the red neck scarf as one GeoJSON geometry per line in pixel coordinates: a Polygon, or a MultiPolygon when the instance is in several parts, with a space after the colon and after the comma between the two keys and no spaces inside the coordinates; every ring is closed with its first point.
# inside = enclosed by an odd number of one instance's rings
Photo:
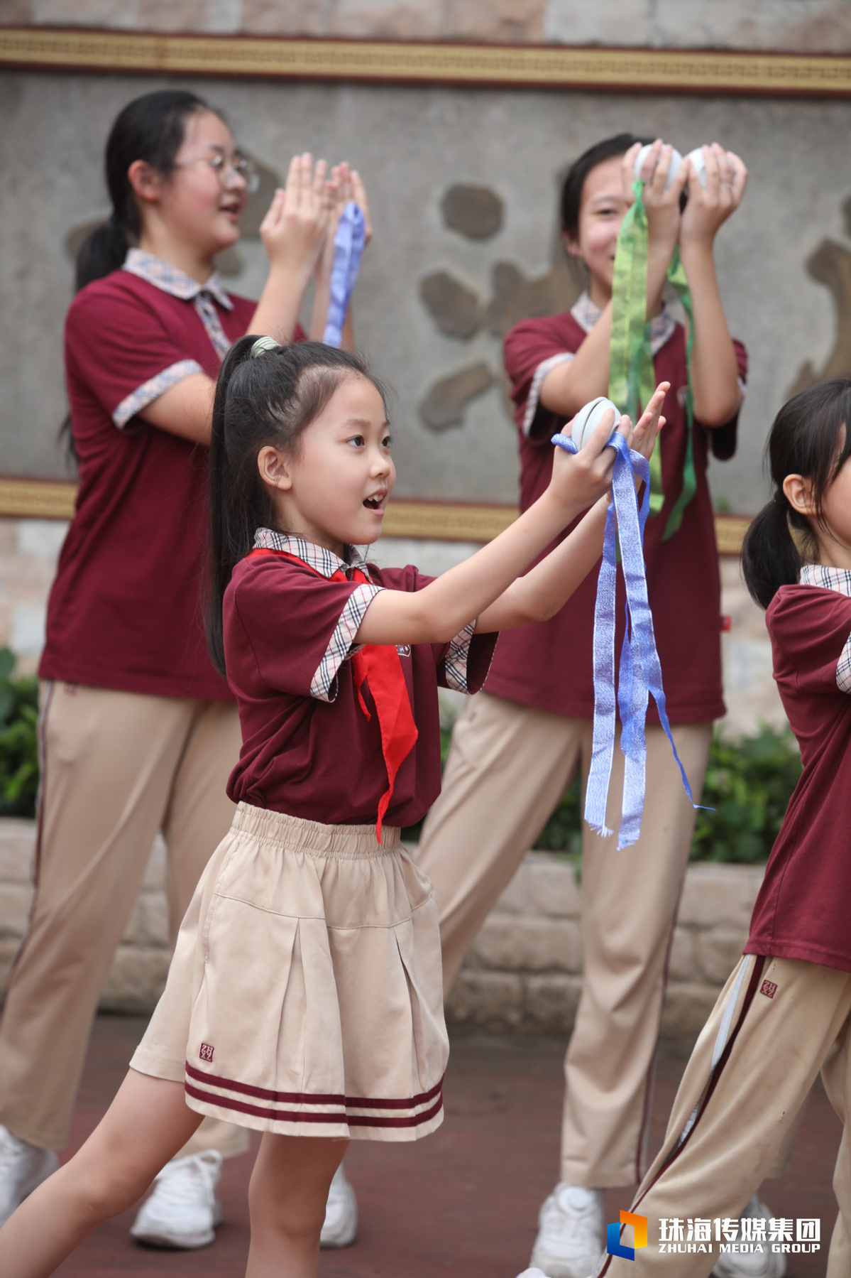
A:
{"type": "MultiPolygon", "coordinates": [[[[418,590],[432,580],[410,566],[369,565],[368,573],[391,590],[418,590]]],[[[227,783],[234,803],[331,826],[376,823],[387,789],[378,716],[368,682],[363,693],[371,718],[363,713],[346,659],[371,601],[362,599],[354,616],[348,606],[363,590],[282,556],[236,565],[224,602],[227,681],[243,732],[227,783]]],[[[385,824],[415,824],[440,794],[437,688],[450,682],[452,661],[454,686],[465,682],[478,691],[494,643],[494,634],[484,634],[474,635],[469,649],[464,643],[460,654],[450,644],[397,649],[419,737],[396,773],[385,824]]]]}

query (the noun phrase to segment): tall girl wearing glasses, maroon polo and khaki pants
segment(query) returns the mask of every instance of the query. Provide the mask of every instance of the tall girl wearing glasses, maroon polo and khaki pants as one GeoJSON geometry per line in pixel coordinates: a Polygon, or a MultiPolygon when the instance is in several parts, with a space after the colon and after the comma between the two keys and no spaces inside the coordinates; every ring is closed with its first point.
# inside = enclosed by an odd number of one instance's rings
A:
{"type": "MultiPolygon", "coordinates": [[[[247,331],[322,332],[346,166],[293,160],[261,226],[259,302],[225,291],[215,256],[256,185],[227,124],[194,93],[130,102],[106,146],[112,212],[83,244],[65,327],[77,509],[47,610],[36,896],[0,1022],[0,1223],[56,1167],[103,978],[151,845],[169,850],[170,929],[231,823],[236,705],[207,656],[199,583],[213,390],[247,331]]],[[[350,340],[350,334],[349,334],[350,340]]],[[[345,343],[345,335],[344,335],[345,343]]],[[[206,1123],[164,1171],[133,1233],[212,1242],[221,1157],[241,1130],[206,1123]]]]}

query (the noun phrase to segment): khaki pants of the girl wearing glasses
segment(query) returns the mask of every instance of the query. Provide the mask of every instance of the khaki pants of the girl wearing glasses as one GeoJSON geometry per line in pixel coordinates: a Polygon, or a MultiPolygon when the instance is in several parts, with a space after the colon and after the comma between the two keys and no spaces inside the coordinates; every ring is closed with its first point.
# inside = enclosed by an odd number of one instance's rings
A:
{"type": "MultiPolygon", "coordinates": [[[[169,849],[172,939],[226,835],[239,758],[236,707],[74,684],[42,689],[36,895],[0,1020],[0,1122],[22,1140],[68,1139],[92,1019],[158,829],[169,849]]],[[[184,1151],[240,1153],[225,1123],[184,1151]]]]}

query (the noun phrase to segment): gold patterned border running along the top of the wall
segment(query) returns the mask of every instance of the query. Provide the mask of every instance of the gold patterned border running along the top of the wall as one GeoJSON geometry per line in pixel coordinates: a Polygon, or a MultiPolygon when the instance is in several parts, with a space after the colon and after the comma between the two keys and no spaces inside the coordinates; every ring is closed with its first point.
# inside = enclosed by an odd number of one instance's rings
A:
{"type": "Polygon", "coordinates": [[[851,56],[0,27],[0,66],[657,93],[851,96],[851,56]]]}

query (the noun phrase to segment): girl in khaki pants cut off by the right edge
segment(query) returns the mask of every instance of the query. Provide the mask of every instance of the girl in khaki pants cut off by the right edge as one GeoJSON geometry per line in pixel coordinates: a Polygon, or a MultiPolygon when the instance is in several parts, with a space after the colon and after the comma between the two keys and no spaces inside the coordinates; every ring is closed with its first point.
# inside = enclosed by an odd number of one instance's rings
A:
{"type": "MultiPolygon", "coordinates": [[[[631,1208],[648,1218],[649,1246],[635,1251],[634,1261],[608,1258],[601,1269],[608,1278],[709,1273],[719,1251],[714,1224],[703,1251],[673,1258],[659,1254],[661,1220],[670,1235],[675,1219],[682,1226],[721,1218],[731,1228],[721,1241],[762,1246],[762,1268],[758,1252],[747,1259],[751,1272],[767,1278],[783,1273],[785,1252],[823,1249],[815,1229],[801,1231],[797,1220],[746,1217],[739,1233],[737,1219],[819,1070],[845,1125],[827,1274],[851,1273],[848,423],[851,382],[834,378],[790,400],[768,440],[776,491],[747,530],[742,567],[750,593],[767,608],[774,679],[804,771],[768,860],[745,955],[698,1039],[664,1145],[631,1208]]],[[[694,1236],[687,1241],[694,1245],[694,1236]]]]}

